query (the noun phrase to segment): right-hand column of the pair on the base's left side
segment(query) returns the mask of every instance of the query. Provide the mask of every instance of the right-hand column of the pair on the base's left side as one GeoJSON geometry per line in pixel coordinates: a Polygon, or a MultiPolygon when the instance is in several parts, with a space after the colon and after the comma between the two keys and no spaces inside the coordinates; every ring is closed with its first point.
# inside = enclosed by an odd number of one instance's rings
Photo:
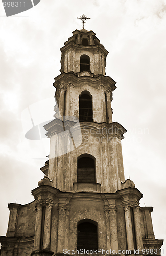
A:
{"type": "Polygon", "coordinates": [[[45,220],[44,220],[44,234],[43,234],[43,249],[50,249],[50,235],[51,235],[51,210],[53,203],[47,201],[45,203],[45,220]]]}

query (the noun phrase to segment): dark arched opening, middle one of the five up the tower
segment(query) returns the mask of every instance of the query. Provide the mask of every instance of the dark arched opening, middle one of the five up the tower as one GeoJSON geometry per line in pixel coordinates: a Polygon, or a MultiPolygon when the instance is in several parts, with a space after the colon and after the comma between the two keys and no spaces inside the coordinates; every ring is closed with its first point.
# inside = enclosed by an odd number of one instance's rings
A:
{"type": "Polygon", "coordinates": [[[79,96],[79,121],[93,121],[92,96],[84,91],[79,96]]]}

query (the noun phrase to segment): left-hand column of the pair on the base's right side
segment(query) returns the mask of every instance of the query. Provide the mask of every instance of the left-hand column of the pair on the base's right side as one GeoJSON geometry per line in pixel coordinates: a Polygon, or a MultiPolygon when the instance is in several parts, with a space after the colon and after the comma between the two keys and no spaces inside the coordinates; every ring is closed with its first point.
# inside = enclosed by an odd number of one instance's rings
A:
{"type": "Polygon", "coordinates": [[[132,223],[131,223],[131,205],[125,205],[125,221],[126,221],[126,233],[127,233],[127,245],[128,250],[134,250],[134,240],[133,240],[133,231],[132,231],[132,223]]]}

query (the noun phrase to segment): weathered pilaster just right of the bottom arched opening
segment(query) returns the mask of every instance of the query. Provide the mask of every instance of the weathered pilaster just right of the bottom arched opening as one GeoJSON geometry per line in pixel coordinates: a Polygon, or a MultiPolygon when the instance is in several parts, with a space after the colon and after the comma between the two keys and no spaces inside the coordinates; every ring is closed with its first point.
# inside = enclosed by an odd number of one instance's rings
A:
{"type": "Polygon", "coordinates": [[[110,233],[111,233],[111,249],[116,253],[118,251],[118,237],[117,237],[117,220],[116,220],[116,206],[109,206],[109,216],[110,216],[110,233]]]}

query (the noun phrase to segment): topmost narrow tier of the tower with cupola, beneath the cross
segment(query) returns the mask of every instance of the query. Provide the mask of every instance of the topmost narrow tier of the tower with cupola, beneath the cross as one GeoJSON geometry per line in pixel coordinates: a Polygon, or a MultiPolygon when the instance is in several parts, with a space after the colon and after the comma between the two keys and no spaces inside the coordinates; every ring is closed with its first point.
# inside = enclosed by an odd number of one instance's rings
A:
{"type": "Polygon", "coordinates": [[[108,52],[92,30],[83,28],[73,31],[73,36],[64,43],[61,52],[61,73],[72,71],[77,76],[105,75],[108,52]]]}

